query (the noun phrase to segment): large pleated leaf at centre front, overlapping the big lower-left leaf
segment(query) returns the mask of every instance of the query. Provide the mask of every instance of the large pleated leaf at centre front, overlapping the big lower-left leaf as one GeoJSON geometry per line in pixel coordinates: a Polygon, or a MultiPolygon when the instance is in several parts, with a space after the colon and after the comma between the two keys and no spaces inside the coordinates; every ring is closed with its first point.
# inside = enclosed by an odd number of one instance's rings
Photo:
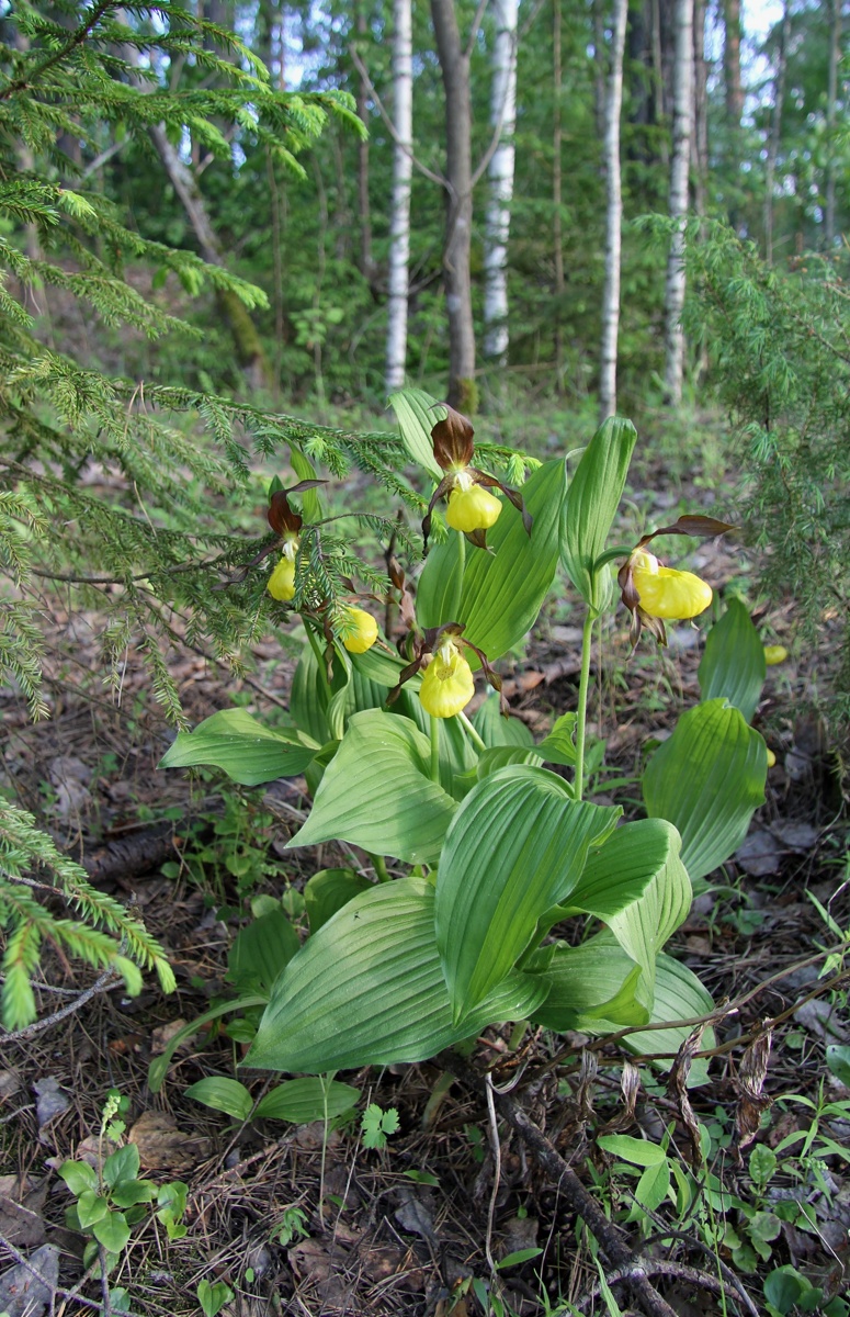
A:
{"type": "Polygon", "coordinates": [[[526,950],[537,922],[576,885],[588,848],[618,809],[571,801],[542,768],[479,782],[455,814],[437,878],[437,944],[455,1018],[476,1006],[526,950]]]}

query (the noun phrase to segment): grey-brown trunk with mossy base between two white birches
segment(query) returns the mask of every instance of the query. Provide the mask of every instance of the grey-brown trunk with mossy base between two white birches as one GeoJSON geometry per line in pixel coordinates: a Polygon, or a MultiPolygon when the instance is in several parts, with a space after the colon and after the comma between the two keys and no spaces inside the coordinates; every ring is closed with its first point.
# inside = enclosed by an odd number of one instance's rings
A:
{"type": "Polygon", "coordinates": [[[447,402],[475,412],[475,327],[472,323],[472,100],[470,57],[461,47],[454,0],[430,0],[437,55],[446,94],[446,242],[442,257],[449,316],[447,402]]]}

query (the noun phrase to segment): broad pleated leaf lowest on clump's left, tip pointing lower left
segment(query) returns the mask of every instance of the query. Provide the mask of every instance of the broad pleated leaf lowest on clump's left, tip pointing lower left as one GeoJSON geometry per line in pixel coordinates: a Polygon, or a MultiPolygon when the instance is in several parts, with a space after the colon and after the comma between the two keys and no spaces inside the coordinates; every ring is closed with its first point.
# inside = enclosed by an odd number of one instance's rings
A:
{"type": "Polygon", "coordinates": [[[425,1060],[489,1023],[528,1018],[546,990],[513,973],[455,1026],[434,889],[403,878],[349,901],[304,944],[275,984],[245,1064],[322,1073],[425,1060]]]}

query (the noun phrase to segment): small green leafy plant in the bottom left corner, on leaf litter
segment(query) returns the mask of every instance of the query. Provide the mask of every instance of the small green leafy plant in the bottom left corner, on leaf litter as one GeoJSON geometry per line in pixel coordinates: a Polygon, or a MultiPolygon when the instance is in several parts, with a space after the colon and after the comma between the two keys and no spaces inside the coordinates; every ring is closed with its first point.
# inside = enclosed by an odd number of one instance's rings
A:
{"type": "Polygon", "coordinates": [[[168,1238],[179,1239],[186,1234],[186,1226],[179,1223],[186,1210],[186,1184],[176,1180],[158,1188],[153,1180],[139,1179],[134,1143],[124,1143],[103,1158],[104,1139],[118,1142],[125,1133],[126,1125],[120,1117],[128,1106],[128,1098],[114,1089],[109,1093],[100,1125],[97,1167],[72,1160],[59,1167],[59,1175],[76,1198],[67,1212],[68,1225],[91,1237],[83,1260],[88,1266],[100,1255],[107,1274],[126,1249],[133,1226],[147,1220],[150,1204],[158,1204],[157,1217],[166,1225],[168,1238]]]}

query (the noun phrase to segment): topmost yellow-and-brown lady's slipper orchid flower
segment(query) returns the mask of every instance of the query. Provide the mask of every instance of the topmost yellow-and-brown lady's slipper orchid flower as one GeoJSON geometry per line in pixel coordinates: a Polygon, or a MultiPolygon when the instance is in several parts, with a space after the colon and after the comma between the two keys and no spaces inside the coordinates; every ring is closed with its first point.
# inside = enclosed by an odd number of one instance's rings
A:
{"type": "Polygon", "coordinates": [[[501,503],[489,493],[491,489],[501,490],[505,498],[522,514],[522,524],[530,535],[532,518],[522,502],[522,495],[509,485],[503,485],[495,475],[479,471],[478,466],[471,465],[475,456],[475,444],[472,443],[475,431],[466,416],[462,416],[453,407],[446,406],[446,412],[443,420],[438,420],[430,432],[434,458],[446,474],[434,490],[422,522],[425,547],[428,547],[430,533],[432,512],[437,500],[445,498],[449,504],[446,522],[453,531],[461,531],[470,544],[478,549],[486,549],[487,532],[491,525],[496,524],[501,514],[501,503]]]}

